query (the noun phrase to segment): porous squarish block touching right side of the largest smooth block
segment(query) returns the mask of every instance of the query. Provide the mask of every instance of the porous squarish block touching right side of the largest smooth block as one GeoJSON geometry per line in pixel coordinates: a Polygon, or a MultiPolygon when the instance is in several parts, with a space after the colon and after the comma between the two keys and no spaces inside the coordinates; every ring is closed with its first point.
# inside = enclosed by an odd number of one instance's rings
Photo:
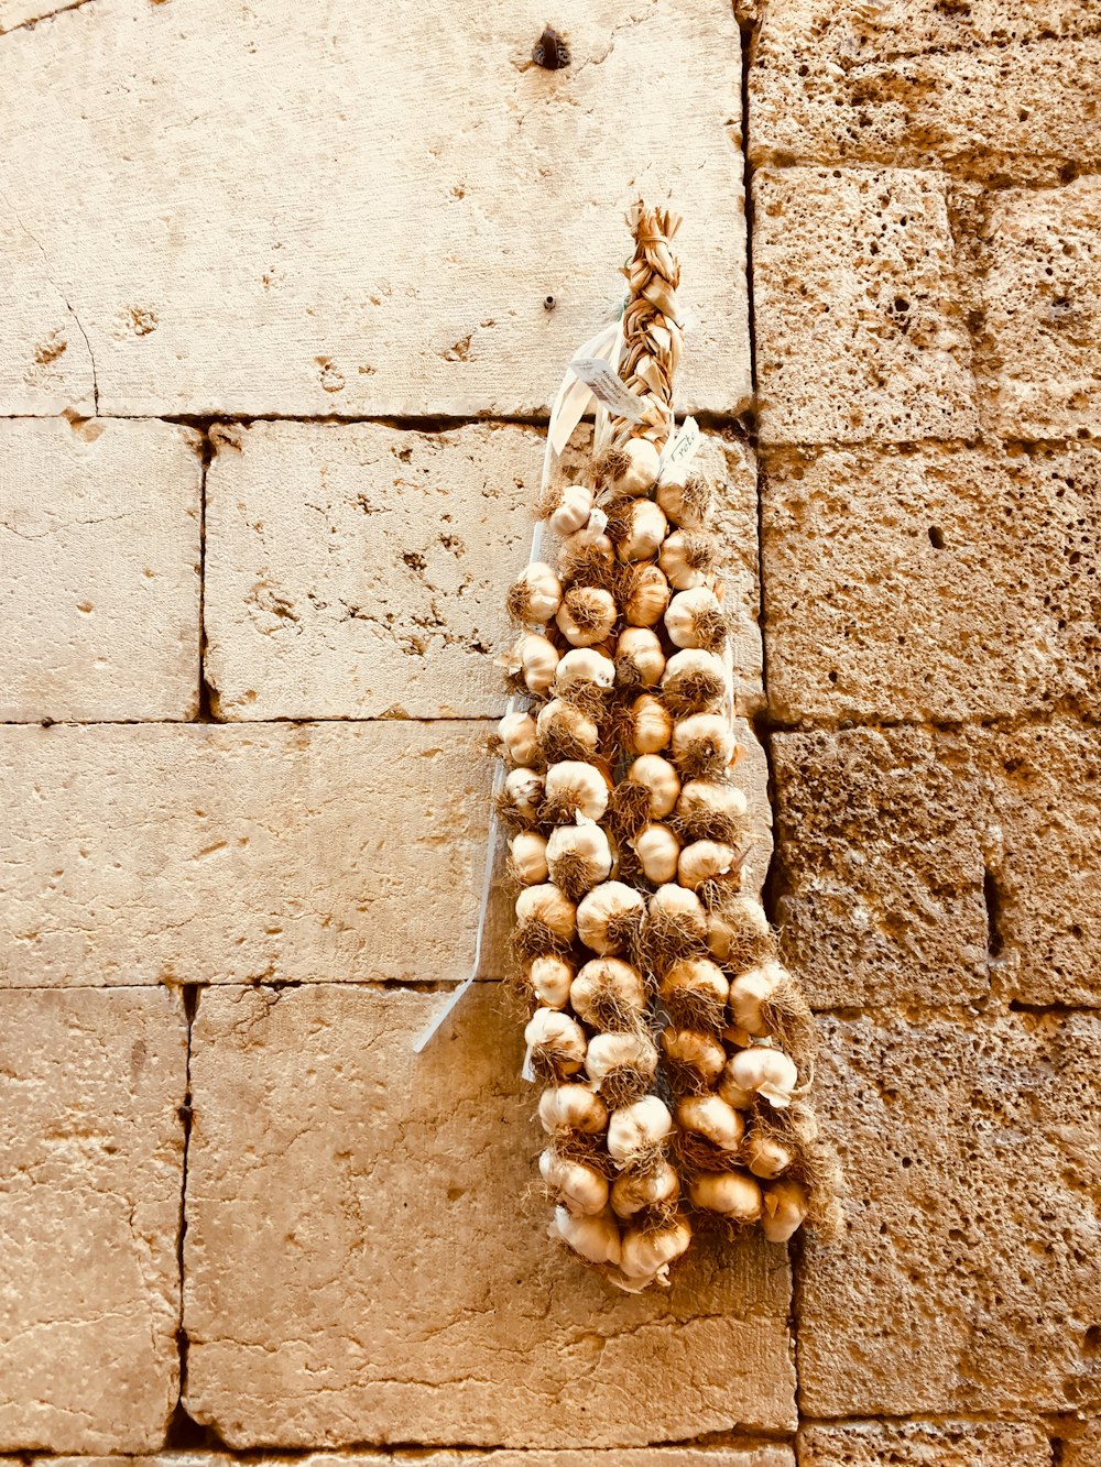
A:
{"type": "Polygon", "coordinates": [[[762,442],[970,437],[944,176],[762,169],[753,198],[762,442]]]}

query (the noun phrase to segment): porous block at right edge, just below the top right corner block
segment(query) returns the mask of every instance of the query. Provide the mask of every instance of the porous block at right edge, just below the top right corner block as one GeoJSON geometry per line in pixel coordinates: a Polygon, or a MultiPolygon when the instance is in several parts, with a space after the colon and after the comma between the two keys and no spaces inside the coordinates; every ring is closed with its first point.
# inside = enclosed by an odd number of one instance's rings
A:
{"type": "Polygon", "coordinates": [[[991,431],[1101,436],[1101,178],[995,194],[986,233],[976,361],[991,431]]]}

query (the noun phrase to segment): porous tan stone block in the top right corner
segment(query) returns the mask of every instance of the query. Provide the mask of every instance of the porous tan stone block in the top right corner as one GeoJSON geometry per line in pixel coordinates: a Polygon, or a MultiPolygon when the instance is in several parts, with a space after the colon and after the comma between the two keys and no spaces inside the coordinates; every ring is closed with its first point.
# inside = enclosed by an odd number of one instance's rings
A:
{"type": "Polygon", "coordinates": [[[768,0],[750,158],[1054,183],[1101,158],[1092,0],[768,0]]]}

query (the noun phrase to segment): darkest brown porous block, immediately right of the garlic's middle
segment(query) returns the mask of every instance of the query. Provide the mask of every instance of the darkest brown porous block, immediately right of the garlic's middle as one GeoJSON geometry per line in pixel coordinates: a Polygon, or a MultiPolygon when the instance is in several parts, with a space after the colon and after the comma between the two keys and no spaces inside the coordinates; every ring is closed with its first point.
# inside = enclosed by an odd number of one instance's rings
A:
{"type": "Polygon", "coordinates": [[[782,734],[777,920],[822,1008],[986,993],[979,782],[959,739],[922,729],[782,734]]]}

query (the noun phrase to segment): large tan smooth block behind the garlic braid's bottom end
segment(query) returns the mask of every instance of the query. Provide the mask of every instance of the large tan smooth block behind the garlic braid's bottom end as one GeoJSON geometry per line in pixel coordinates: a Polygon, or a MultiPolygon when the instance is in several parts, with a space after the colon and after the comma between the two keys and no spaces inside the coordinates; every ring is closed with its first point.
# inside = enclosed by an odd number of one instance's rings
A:
{"type": "Polygon", "coordinates": [[[235,1448],[642,1446],[794,1424],[787,1253],[697,1240],[624,1295],[546,1237],[496,986],[207,990],[192,1046],[186,1405],[235,1448]]]}

